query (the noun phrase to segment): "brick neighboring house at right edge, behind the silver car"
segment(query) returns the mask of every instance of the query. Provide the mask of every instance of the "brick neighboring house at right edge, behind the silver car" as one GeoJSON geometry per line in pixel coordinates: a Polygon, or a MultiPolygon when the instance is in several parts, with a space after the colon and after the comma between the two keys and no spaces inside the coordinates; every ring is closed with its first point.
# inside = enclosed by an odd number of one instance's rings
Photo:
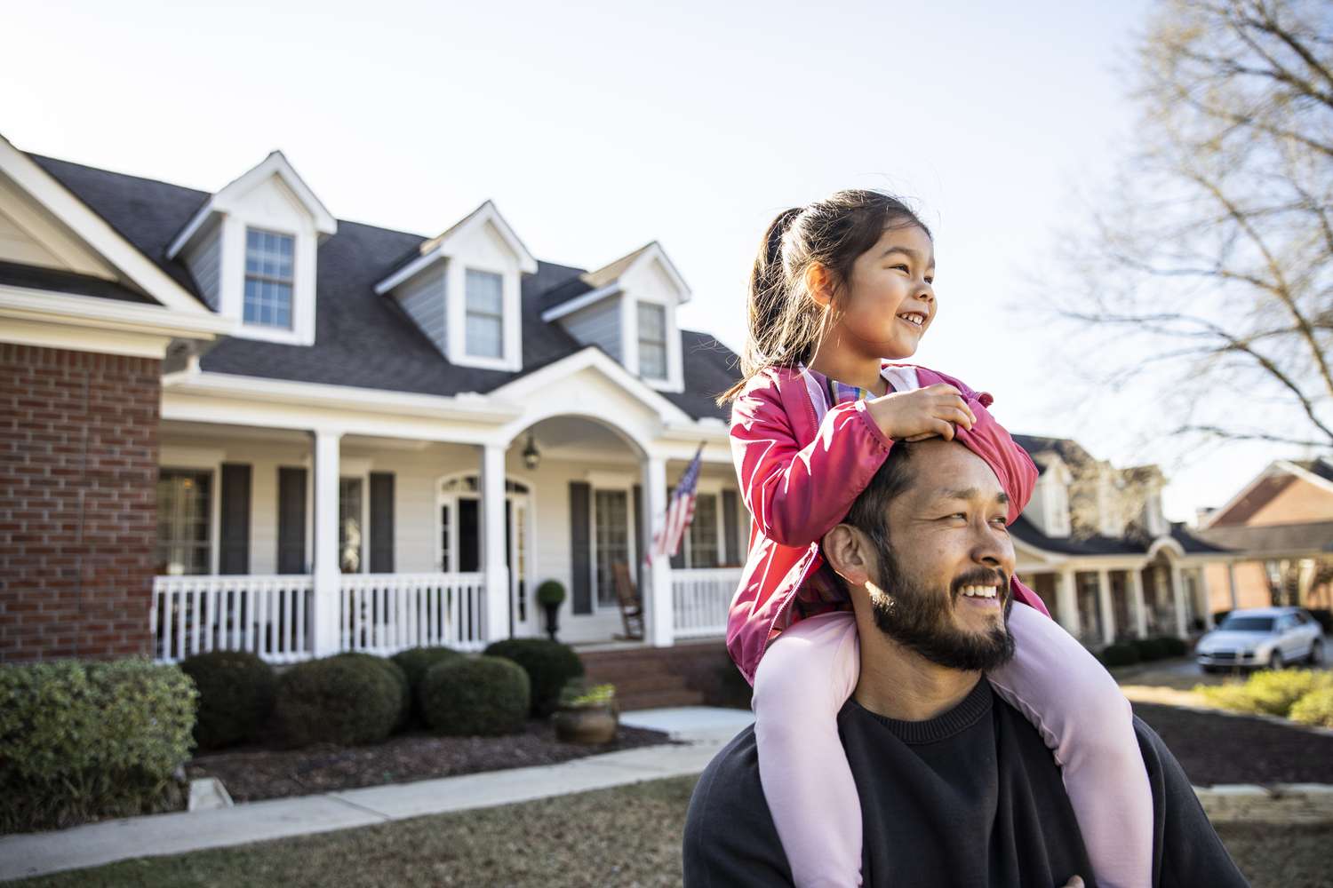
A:
{"type": "Polygon", "coordinates": [[[1280,459],[1221,509],[1198,537],[1234,551],[1210,567],[1212,608],[1296,604],[1333,608],[1333,461],[1280,459]]]}

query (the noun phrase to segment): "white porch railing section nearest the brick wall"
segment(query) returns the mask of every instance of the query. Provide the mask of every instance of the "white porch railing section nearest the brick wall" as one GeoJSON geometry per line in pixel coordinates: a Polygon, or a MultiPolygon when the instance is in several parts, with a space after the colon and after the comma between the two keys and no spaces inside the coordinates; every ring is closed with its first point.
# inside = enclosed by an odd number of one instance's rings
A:
{"type": "Polygon", "coordinates": [[[272,663],[311,655],[309,576],[155,576],[153,658],[251,651],[272,663]]]}

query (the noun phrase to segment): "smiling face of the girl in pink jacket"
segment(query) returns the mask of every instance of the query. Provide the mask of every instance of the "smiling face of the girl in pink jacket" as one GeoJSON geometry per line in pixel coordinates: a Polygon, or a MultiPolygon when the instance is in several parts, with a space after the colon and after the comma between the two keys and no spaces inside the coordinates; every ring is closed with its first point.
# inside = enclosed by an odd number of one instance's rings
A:
{"type": "Polygon", "coordinates": [[[837,347],[909,358],[934,320],[934,244],[916,225],[884,232],[852,264],[834,329],[837,347]]]}

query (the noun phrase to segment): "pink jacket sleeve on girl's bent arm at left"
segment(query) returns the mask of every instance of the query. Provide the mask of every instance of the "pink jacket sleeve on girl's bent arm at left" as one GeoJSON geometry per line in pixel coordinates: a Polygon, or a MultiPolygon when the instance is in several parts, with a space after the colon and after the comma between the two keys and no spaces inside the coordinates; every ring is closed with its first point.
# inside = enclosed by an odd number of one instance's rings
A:
{"type": "MultiPolygon", "coordinates": [[[[825,414],[814,441],[802,442],[773,377],[757,378],[732,407],[732,458],[741,497],[758,530],[782,546],[808,546],[832,530],[874,477],[893,442],[866,413],[865,402],[825,414]]],[[[804,390],[800,398],[806,398],[804,390]]],[[[798,398],[792,402],[808,406],[798,398]]]]}

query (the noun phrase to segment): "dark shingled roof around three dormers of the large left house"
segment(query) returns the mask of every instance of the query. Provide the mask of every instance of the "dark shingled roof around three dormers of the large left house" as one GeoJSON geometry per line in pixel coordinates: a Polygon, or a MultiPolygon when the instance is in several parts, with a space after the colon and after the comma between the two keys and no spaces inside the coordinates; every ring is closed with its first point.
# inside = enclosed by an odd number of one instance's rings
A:
{"type": "MultiPolygon", "coordinates": [[[[93,212],[157,264],[177,284],[199,297],[199,288],[181,262],[167,260],[167,246],[209,198],[200,192],[149,178],[33,154],[93,212]]],[[[509,373],[451,363],[405,312],[375,284],[428,238],[420,234],[339,220],[337,234],[319,248],[315,345],[299,346],[228,338],[201,359],[213,373],[320,382],[416,394],[485,393],[517,377],[568,357],[583,347],[564,328],[541,320],[541,310],[572,298],[588,285],[584,269],[539,262],[523,278],[523,370],[509,373]],[[551,300],[559,293],[561,298],[551,300]]],[[[200,298],[203,302],[203,298],[200,298]]],[[[713,397],[738,378],[728,367],[736,355],[714,338],[681,330],[685,391],[663,393],[697,418],[728,418],[713,397]]]]}

